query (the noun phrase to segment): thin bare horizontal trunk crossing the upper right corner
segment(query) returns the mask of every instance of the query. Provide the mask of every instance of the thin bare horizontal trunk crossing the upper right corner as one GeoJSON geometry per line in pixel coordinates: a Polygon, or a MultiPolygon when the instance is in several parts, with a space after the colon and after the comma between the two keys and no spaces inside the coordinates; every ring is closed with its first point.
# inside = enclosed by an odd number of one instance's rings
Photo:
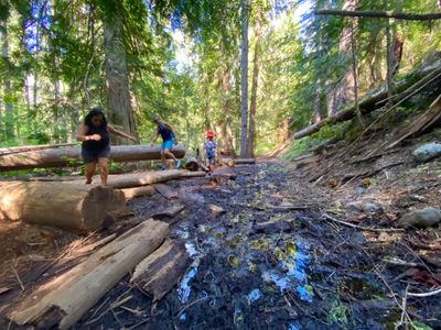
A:
{"type": "Polygon", "coordinates": [[[433,21],[433,20],[441,19],[441,13],[413,14],[413,13],[376,11],[376,10],[355,11],[355,10],[321,9],[321,10],[314,11],[314,14],[351,16],[351,18],[397,19],[397,20],[407,20],[407,21],[433,21]]]}

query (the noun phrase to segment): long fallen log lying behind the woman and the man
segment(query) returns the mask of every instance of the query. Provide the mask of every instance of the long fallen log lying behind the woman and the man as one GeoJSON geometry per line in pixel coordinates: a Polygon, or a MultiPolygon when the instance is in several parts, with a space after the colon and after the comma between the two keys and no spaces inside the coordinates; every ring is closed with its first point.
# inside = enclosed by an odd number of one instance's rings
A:
{"type": "MultiPolygon", "coordinates": [[[[185,154],[185,147],[182,144],[174,145],[172,153],[178,158],[182,158],[185,154]]],[[[110,147],[110,160],[115,162],[150,161],[160,158],[161,150],[159,146],[115,145],[110,147]]],[[[0,170],[78,166],[78,164],[82,164],[79,146],[46,148],[0,155],[0,170]]]]}

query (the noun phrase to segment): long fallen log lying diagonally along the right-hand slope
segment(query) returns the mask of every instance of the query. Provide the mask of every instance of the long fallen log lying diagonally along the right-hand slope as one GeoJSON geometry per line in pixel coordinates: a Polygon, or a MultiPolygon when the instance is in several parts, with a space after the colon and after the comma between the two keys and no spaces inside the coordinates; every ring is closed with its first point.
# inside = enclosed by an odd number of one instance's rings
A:
{"type": "MultiPolygon", "coordinates": [[[[404,98],[409,97],[416,90],[420,90],[421,88],[427,87],[431,82],[435,82],[437,80],[441,80],[441,62],[437,61],[432,65],[428,65],[422,67],[420,70],[417,70],[406,77],[405,79],[398,81],[394,86],[394,90],[398,94],[392,98],[394,102],[399,102],[404,98]],[[416,82],[417,81],[417,82],[416,82]]],[[[359,109],[362,113],[369,113],[375,109],[380,108],[385,105],[388,98],[387,88],[380,88],[372,94],[366,95],[359,101],[359,109]]],[[[346,109],[342,109],[332,117],[326,118],[325,120],[309,125],[298,132],[295,132],[292,138],[301,139],[308,135],[311,135],[315,132],[319,132],[321,128],[335,124],[338,122],[343,122],[355,117],[355,106],[351,105],[346,109]]]]}

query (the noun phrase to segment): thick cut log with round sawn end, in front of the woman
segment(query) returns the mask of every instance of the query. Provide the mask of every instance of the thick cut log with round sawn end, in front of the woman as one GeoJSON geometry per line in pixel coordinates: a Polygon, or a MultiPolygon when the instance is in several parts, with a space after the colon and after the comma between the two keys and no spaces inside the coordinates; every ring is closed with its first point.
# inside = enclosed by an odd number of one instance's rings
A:
{"type": "Polygon", "coordinates": [[[120,190],[63,183],[0,183],[0,218],[85,231],[126,206],[120,190]]]}

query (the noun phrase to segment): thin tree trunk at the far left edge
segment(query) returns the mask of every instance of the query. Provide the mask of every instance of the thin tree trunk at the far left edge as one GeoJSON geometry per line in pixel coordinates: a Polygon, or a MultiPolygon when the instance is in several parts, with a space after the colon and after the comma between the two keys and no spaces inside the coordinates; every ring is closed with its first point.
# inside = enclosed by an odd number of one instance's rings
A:
{"type": "MultiPolygon", "coordinates": [[[[0,21],[1,24],[1,36],[2,36],[2,45],[1,45],[1,56],[9,67],[9,41],[8,41],[8,22],[7,20],[0,21]]],[[[7,74],[3,78],[3,92],[4,92],[4,133],[7,139],[14,138],[14,119],[13,119],[13,107],[11,103],[12,98],[12,88],[11,80],[9,79],[10,73],[7,74]]]]}

